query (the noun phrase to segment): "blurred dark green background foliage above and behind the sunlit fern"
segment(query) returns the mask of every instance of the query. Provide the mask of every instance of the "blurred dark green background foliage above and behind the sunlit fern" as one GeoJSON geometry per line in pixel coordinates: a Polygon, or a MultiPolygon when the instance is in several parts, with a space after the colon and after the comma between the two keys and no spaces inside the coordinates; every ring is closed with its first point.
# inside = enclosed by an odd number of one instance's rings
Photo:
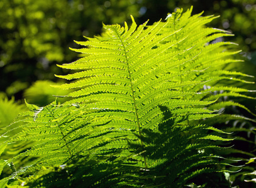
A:
{"type": "Polygon", "coordinates": [[[211,26],[234,33],[228,40],[239,43],[256,65],[255,0],[1,0],[0,91],[20,99],[36,80],[57,81],[53,73],[67,72],[55,64],[77,58],[69,50],[78,47],[73,40],[101,33],[102,23],[129,24],[130,14],[137,23],[153,23],[191,5],[193,14],[221,15],[211,26]]]}

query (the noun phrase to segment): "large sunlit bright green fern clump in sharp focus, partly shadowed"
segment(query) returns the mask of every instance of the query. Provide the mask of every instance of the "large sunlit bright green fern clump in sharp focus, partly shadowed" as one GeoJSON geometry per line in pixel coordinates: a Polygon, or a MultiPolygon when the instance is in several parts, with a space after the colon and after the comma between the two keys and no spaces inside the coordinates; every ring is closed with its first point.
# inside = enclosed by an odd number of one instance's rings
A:
{"type": "MultiPolygon", "coordinates": [[[[23,130],[10,136],[1,151],[16,142],[36,144],[1,160],[3,170],[30,157],[0,185],[181,187],[200,174],[228,172],[232,160],[214,151],[223,149],[216,140],[232,139],[203,122],[220,117],[218,110],[228,105],[248,110],[218,102],[221,94],[211,92],[247,97],[240,92],[248,90],[220,81],[246,82],[234,76],[248,75],[221,69],[240,61],[231,57],[238,51],[225,50],[233,43],[213,43],[231,34],[204,26],[216,17],[191,16],[191,11],[178,9],[152,26],[137,27],[131,16],[130,28],[103,25],[101,36],[77,42],[85,48],[72,50],[84,56],[59,66],[79,71],[58,76],[75,81],[56,86],[75,89],[67,95],[72,99],[46,107],[27,104],[31,111],[18,121],[23,130]]],[[[10,126],[16,129],[15,123],[10,126]]]]}

